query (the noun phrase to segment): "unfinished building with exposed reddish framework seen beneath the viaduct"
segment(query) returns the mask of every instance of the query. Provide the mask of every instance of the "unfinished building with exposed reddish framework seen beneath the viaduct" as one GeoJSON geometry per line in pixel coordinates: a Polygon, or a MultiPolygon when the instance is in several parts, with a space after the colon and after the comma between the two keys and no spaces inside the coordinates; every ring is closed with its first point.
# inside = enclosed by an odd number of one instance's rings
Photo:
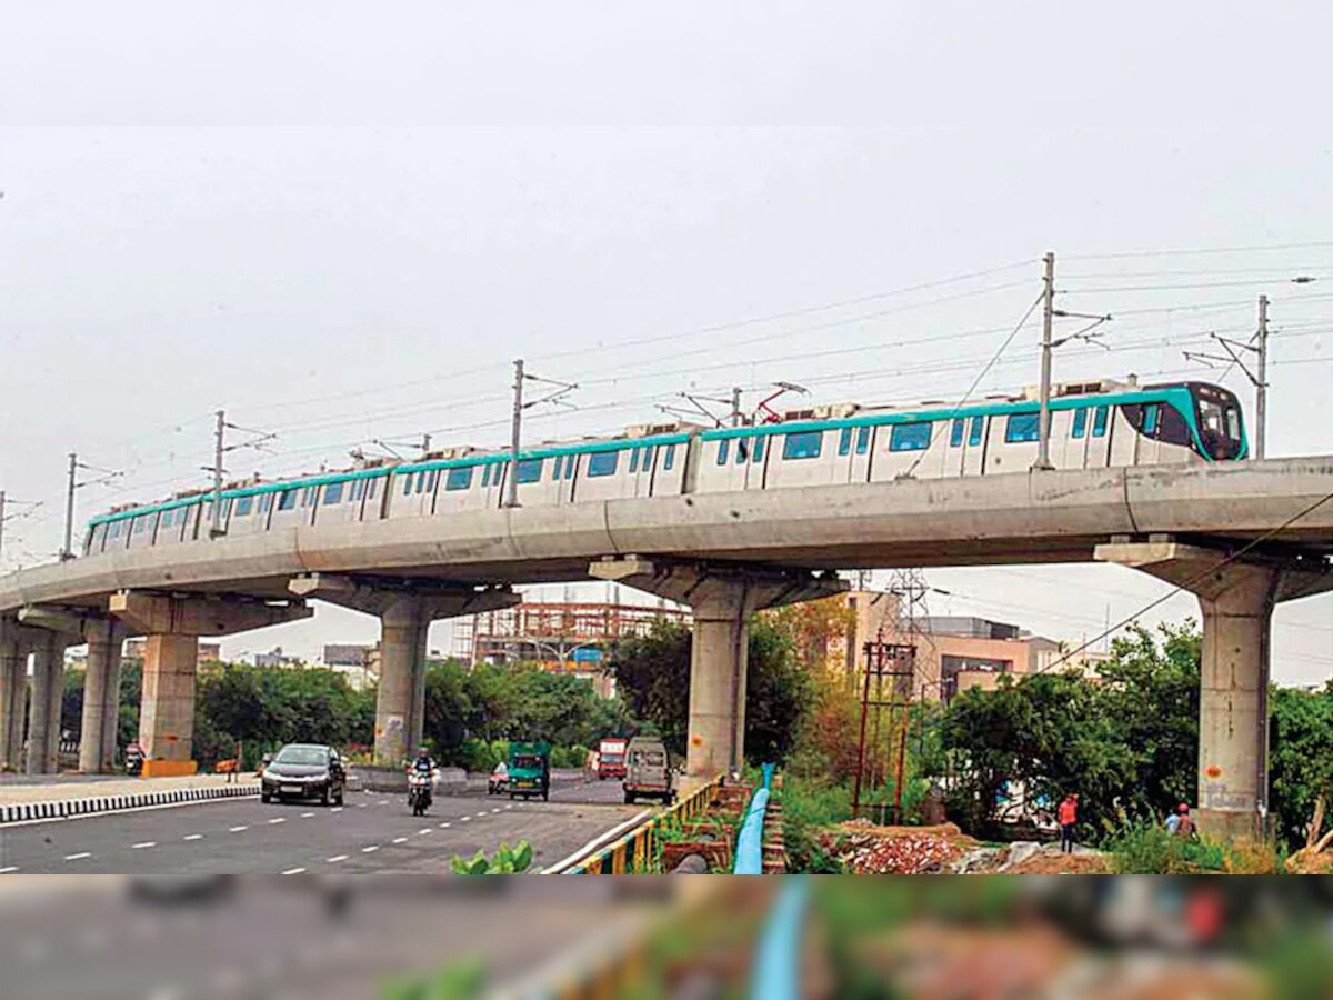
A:
{"type": "Polygon", "coordinates": [[[604,679],[608,647],[617,639],[645,635],[655,621],[689,623],[689,612],[635,604],[528,601],[513,608],[459,619],[453,655],[479,663],[532,663],[541,669],[604,679]]]}

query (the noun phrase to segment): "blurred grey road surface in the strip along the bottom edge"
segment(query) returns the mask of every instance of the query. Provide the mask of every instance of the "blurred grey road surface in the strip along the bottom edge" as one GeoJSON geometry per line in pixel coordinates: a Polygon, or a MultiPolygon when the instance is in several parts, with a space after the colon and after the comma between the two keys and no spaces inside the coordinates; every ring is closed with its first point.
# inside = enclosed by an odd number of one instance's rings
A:
{"type": "Polygon", "coordinates": [[[169,907],[131,901],[120,880],[21,905],[0,896],[0,995],[349,1000],[460,960],[481,963],[499,985],[647,905],[619,901],[609,879],[355,881],[340,916],[311,879],[245,879],[231,897],[169,907]]]}

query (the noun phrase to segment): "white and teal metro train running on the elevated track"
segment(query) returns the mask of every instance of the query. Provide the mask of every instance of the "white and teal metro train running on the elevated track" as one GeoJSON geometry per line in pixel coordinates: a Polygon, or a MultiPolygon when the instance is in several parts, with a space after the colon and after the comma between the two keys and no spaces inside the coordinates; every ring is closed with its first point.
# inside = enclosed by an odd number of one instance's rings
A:
{"type": "MultiPolygon", "coordinates": [[[[632,427],[616,437],[508,451],[455,448],[421,460],[384,460],[281,481],[248,481],[220,493],[228,536],[293,525],[397,517],[448,517],[500,508],[517,473],[523,507],[884,483],[914,476],[1026,472],[1037,459],[1034,392],[961,407],[788,411],[772,423],[702,428],[632,427]]],[[[1140,387],[1096,381],[1056,387],[1050,461],[1057,469],[1238,461],[1249,451],[1236,396],[1206,383],[1140,387]]],[[[93,517],[85,555],[207,540],[213,492],[127,505],[93,517]]]]}

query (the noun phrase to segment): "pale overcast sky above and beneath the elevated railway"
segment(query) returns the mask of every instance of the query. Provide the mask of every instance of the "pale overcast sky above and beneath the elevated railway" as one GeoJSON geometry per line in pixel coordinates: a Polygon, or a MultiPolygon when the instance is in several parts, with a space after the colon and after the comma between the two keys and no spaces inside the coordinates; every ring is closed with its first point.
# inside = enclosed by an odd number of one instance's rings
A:
{"type": "MultiPolygon", "coordinates": [[[[1064,308],[1116,316],[1110,349],[1064,349],[1057,377],[1217,379],[1182,351],[1248,339],[1268,293],[1269,452],[1328,455],[1330,21],[0,3],[0,488],[44,503],[7,525],[0,567],[59,547],[69,451],[125,473],[80,491],[81,520],[200,483],[216,408],[277,435],[233,471],[279,475],[424,432],[501,444],[517,356],[581,384],[533,439],[778,379],[820,401],[957,399],[1048,249],[1064,308]]],[[[1036,380],[1037,332],[980,391],[1036,380]]],[[[1110,567],[928,580],[950,592],[934,613],[1070,640],[1165,589],[1110,567]]],[[[1181,596],[1144,620],[1188,615],[1181,596]]],[[[325,608],[228,652],[375,632],[325,608]]],[[[1282,608],[1274,645],[1281,681],[1333,673],[1333,597],[1282,608]]]]}

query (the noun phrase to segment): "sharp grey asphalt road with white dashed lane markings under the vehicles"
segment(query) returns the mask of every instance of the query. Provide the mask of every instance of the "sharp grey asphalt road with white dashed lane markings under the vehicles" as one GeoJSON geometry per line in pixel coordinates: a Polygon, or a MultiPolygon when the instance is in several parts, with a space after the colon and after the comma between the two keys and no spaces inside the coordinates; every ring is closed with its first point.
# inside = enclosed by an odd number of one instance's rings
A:
{"type": "Polygon", "coordinates": [[[368,792],[345,808],[224,800],[0,828],[0,875],[445,872],[455,855],[520,840],[540,868],[640,811],[615,783],[557,785],[549,803],[451,795],[423,819],[404,796],[368,792]]]}

